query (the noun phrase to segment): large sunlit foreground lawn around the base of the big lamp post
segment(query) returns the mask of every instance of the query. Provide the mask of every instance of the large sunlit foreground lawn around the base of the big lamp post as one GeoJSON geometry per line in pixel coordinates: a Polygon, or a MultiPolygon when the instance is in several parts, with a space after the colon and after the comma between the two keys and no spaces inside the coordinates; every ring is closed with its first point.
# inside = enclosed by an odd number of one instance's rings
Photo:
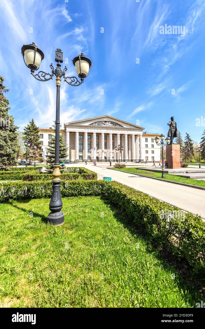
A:
{"type": "Polygon", "coordinates": [[[45,222],[48,199],[0,204],[0,302],[11,307],[195,307],[201,297],[192,285],[106,200],[70,197],[63,202],[65,224],[59,227],[45,222]]]}

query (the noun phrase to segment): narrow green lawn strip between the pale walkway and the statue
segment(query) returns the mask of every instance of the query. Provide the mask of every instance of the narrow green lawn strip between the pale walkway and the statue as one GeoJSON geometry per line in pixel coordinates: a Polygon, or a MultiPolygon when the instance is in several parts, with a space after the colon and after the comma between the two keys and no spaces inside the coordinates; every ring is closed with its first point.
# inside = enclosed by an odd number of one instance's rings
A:
{"type": "MultiPolygon", "coordinates": [[[[123,171],[131,172],[131,173],[135,173],[135,174],[139,173],[140,175],[149,176],[149,177],[162,178],[162,172],[143,170],[143,169],[138,169],[136,167],[135,168],[121,168],[121,169],[114,168],[114,169],[123,170],[123,171]]],[[[181,177],[181,176],[177,176],[177,175],[170,175],[170,174],[165,173],[164,179],[167,179],[167,180],[173,181],[173,182],[179,182],[179,183],[185,183],[185,184],[205,187],[205,181],[196,180],[196,179],[192,179],[192,178],[185,178],[185,177],[181,177]]]]}

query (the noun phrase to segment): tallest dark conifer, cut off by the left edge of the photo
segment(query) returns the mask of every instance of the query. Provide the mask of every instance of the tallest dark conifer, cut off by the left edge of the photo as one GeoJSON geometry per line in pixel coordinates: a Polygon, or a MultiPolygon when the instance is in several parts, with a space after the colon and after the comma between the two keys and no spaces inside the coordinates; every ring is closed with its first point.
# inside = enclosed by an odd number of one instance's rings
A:
{"type": "Polygon", "coordinates": [[[16,163],[18,127],[14,125],[13,116],[8,114],[11,108],[4,93],[9,89],[3,82],[4,78],[0,76],[0,165],[8,166],[16,163]]]}

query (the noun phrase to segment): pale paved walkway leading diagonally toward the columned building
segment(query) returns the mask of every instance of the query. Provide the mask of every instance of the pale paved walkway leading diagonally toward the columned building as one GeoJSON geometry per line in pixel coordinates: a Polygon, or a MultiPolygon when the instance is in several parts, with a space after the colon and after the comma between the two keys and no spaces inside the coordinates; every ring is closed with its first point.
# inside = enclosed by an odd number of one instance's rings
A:
{"type": "MultiPolygon", "coordinates": [[[[85,164],[72,164],[72,166],[85,166],[85,164]]],[[[112,177],[119,183],[140,190],[171,205],[193,214],[201,215],[205,219],[205,191],[187,186],[157,181],[154,179],[106,169],[107,165],[94,166],[88,164],[86,168],[95,171],[102,177],[112,177]]]]}

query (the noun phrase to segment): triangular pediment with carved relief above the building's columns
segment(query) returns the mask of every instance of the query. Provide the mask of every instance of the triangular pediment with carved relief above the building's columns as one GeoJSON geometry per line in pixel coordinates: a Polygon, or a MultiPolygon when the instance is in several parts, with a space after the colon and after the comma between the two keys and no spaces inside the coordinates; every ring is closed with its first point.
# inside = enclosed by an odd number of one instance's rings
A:
{"type": "Polygon", "coordinates": [[[133,123],[117,119],[111,115],[102,115],[102,116],[96,116],[94,118],[89,119],[83,119],[78,121],[72,121],[64,124],[64,127],[66,129],[66,126],[69,125],[77,125],[77,126],[95,126],[95,127],[121,127],[121,128],[137,128],[139,130],[143,130],[144,128],[138,125],[135,125],[133,123]]]}

